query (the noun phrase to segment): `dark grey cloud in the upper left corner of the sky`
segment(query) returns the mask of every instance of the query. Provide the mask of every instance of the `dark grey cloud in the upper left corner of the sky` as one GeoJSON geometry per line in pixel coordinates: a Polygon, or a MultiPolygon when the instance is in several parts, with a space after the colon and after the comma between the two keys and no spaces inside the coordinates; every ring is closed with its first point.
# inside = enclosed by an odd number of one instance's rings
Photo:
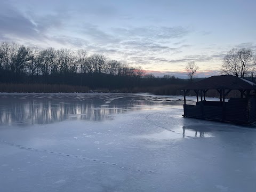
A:
{"type": "Polygon", "coordinates": [[[0,2],[0,36],[11,41],[44,41],[47,39],[47,30],[59,29],[65,18],[61,13],[37,17],[33,12],[22,13],[6,2],[0,2]]]}

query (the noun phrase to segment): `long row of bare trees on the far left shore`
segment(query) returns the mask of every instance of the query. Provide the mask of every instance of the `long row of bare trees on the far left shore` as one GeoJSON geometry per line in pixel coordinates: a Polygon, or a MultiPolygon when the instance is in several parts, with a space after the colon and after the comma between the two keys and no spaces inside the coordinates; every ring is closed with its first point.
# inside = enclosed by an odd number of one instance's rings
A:
{"type": "Polygon", "coordinates": [[[161,86],[182,80],[170,75],[155,78],[153,74],[145,74],[141,66],[133,67],[111,60],[103,54],[89,55],[84,49],[39,49],[36,46],[2,42],[0,82],[132,89],[136,86],[161,86]]]}

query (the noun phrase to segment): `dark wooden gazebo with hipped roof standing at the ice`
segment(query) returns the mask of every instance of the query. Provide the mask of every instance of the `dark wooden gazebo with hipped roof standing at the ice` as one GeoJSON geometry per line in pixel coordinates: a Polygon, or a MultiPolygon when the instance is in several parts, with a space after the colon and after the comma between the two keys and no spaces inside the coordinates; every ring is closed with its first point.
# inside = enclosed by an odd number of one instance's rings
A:
{"type": "Polygon", "coordinates": [[[232,75],[212,76],[181,89],[184,92],[184,117],[243,124],[256,121],[256,85],[250,81],[232,75]],[[190,90],[196,93],[196,105],[186,104],[186,95],[190,90]],[[220,101],[206,101],[208,90],[217,90],[220,101]],[[230,98],[226,102],[225,97],[232,90],[240,91],[241,98],[230,98]]]}

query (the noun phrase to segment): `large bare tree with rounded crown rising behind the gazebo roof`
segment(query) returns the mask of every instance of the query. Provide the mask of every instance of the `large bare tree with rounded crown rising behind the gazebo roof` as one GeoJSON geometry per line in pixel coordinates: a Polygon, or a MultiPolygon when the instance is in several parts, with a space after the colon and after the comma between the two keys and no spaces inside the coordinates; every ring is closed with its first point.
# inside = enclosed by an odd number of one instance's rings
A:
{"type": "Polygon", "coordinates": [[[244,78],[254,74],[255,57],[252,49],[231,49],[224,57],[221,66],[223,75],[234,75],[244,78]]]}

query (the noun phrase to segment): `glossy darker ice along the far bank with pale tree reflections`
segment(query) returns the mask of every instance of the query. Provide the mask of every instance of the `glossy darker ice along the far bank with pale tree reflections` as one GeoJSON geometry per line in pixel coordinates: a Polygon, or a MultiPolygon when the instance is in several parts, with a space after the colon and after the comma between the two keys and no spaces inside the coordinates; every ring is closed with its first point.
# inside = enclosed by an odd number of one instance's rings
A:
{"type": "Polygon", "coordinates": [[[113,114],[182,105],[149,94],[0,94],[0,124],[46,124],[65,119],[103,121],[113,114]]]}

